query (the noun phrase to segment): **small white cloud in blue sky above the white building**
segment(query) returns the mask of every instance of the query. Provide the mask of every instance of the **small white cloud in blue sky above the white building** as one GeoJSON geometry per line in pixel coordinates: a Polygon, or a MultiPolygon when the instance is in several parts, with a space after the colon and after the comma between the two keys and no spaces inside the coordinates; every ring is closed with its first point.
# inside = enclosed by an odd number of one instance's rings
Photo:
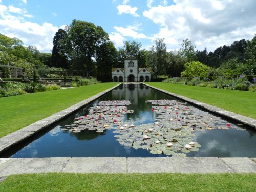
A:
{"type": "Polygon", "coordinates": [[[139,26],[128,26],[126,28],[115,26],[114,29],[123,36],[132,37],[134,39],[148,38],[145,34],[137,32],[139,26]]]}

